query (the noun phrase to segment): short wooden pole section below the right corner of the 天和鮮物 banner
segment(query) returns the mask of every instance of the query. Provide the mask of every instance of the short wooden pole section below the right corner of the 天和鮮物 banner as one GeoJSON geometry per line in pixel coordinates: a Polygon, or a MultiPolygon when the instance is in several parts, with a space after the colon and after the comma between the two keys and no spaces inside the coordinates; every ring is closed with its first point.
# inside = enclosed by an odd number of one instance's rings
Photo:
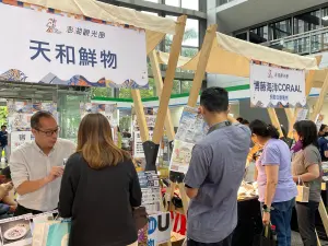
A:
{"type": "Polygon", "coordinates": [[[145,115],[141,102],[141,95],[139,90],[131,90],[132,99],[134,104],[136,115],[137,115],[137,121],[140,129],[140,138],[142,142],[145,142],[149,140],[149,130],[145,121],[145,115]]]}

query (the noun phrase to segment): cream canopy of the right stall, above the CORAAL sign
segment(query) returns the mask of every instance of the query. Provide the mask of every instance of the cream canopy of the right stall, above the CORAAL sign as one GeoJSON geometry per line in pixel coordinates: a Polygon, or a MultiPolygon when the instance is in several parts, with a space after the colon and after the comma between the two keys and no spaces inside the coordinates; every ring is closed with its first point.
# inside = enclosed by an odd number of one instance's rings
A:
{"type": "MultiPolygon", "coordinates": [[[[180,57],[178,68],[196,71],[200,52],[192,58],[180,57]]],[[[159,52],[157,56],[161,63],[167,63],[168,54],[159,52]]],[[[250,60],[260,60],[294,69],[318,69],[314,57],[302,57],[216,33],[216,37],[212,42],[206,71],[215,74],[248,78],[250,60]]]]}

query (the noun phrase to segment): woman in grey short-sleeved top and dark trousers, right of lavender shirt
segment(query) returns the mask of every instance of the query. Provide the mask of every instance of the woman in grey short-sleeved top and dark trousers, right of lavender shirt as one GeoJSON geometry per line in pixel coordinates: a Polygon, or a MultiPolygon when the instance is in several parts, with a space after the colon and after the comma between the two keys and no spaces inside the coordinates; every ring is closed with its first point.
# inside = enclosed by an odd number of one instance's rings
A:
{"type": "Polygon", "coordinates": [[[294,125],[295,149],[292,161],[293,178],[309,187],[308,202],[296,202],[298,230],[304,246],[316,246],[315,216],[321,199],[321,157],[317,142],[317,127],[311,120],[294,125]]]}

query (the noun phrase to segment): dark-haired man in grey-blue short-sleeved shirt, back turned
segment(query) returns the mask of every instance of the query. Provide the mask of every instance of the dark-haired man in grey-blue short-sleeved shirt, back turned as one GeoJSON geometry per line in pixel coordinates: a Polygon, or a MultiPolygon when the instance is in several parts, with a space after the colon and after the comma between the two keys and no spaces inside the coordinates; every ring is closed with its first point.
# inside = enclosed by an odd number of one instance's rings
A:
{"type": "Polygon", "coordinates": [[[221,87],[202,92],[200,114],[210,130],[196,143],[185,177],[190,198],[187,245],[232,246],[250,129],[229,116],[229,95],[221,87]]]}

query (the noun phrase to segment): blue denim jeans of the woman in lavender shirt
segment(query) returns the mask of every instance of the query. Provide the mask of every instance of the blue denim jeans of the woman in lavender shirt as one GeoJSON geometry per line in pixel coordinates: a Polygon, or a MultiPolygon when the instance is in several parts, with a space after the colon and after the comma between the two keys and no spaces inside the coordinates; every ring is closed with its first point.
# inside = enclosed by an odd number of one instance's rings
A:
{"type": "Polygon", "coordinates": [[[276,225],[278,246],[291,246],[291,220],[295,199],[272,203],[271,224],[276,225]]]}

